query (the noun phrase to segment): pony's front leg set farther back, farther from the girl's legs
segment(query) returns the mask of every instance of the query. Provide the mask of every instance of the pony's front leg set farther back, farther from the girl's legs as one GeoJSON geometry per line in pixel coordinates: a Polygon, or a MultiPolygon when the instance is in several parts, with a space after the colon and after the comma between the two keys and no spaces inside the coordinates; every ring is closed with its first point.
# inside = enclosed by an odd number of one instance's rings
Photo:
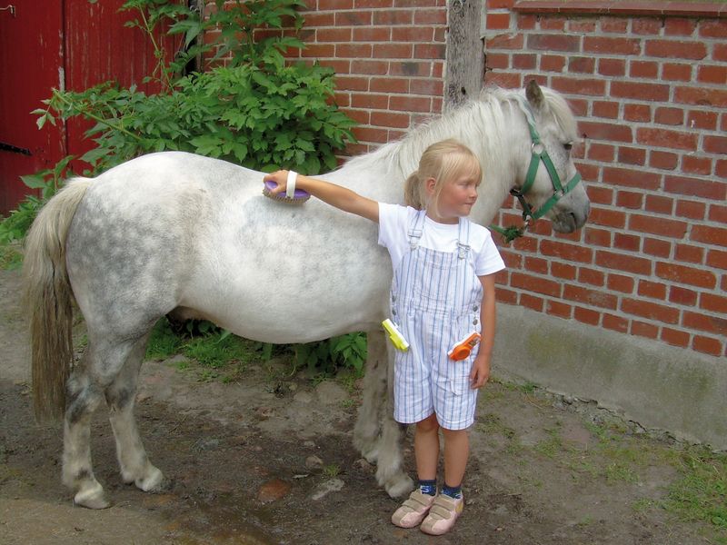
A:
{"type": "Polygon", "coordinates": [[[386,407],[386,336],[383,330],[368,332],[367,356],[364,374],[364,399],[358,410],[354,426],[354,447],[367,461],[375,462],[379,456],[380,415],[386,407]]]}

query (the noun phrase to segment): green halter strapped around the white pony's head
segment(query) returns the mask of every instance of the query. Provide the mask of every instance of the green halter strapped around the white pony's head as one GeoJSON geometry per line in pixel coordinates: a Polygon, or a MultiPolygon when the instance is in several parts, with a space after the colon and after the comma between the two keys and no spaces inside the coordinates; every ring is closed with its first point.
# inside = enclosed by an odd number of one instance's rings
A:
{"type": "Polygon", "coordinates": [[[515,197],[520,205],[523,207],[523,221],[524,225],[523,228],[517,228],[514,225],[511,225],[507,229],[502,229],[500,227],[493,227],[490,226],[491,229],[496,231],[497,233],[501,233],[506,241],[509,243],[513,241],[513,239],[516,239],[520,236],[523,236],[523,233],[525,230],[527,230],[530,227],[531,220],[534,223],[535,220],[538,220],[543,217],[548,211],[553,208],[553,205],[557,203],[564,195],[571,193],[573,191],[573,188],[578,185],[579,182],[581,182],[581,174],[576,172],[573,175],[573,178],[571,178],[568,183],[565,184],[563,187],[563,183],[561,183],[561,177],[558,175],[558,171],[555,170],[555,166],[553,165],[553,160],[551,159],[550,155],[548,155],[548,152],[545,150],[545,146],[540,140],[540,134],[538,134],[538,130],[535,128],[535,124],[531,119],[534,119],[533,111],[530,109],[530,104],[527,104],[524,100],[521,101],[521,104],[527,109],[527,113],[530,115],[525,115],[525,120],[528,123],[528,128],[530,129],[530,138],[533,141],[533,144],[531,145],[531,157],[530,157],[530,165],[528,166],[528,172],[525,174],[525,183],[523,183],[523,187],[520,189],[516,189],[513,187],[513,189],[510,190],[510,194],[515,197]],[[545,165],[545,170],[548,171],[548,174],[551,177],[551,183],[553,183],[553,195],[550,199],[545,201],[543,205],[538,208],[536,211],[533,212],[533,207],[525,201],[525,194],[528,193],[533,188],[533,183],[535,183],[535,176],[538,173],[538,167],[540,166],[540,162],[543,161],[543,164],[545,165]]]}

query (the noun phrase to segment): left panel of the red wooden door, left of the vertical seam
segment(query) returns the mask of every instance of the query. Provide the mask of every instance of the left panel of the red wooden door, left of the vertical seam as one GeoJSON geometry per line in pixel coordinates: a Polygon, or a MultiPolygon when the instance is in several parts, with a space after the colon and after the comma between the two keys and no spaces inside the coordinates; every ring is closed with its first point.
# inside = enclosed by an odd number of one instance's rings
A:
{"type": "Polygon", "coordinates": [[[39,131],[30,112],[64,82],[60,0],[0,0],[0,214],[27,192],[23,174],[65,156],[63,126],[39,131]]]}

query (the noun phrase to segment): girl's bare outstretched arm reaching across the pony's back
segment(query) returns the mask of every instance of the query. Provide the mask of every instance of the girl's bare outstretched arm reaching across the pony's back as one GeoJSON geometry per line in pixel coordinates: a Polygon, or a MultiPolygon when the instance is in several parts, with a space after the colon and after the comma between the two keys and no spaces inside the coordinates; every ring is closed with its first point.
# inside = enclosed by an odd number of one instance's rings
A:
{"type": "MultiPolygon", "coordinates": [[[[263,181],[271,181],[277,183],[277,187],[270,193],[276,195],[283,193],[287,186],[288,171],[277,171],[266,174],[263,181]]],[[[379,203],[372,201],[358,193],[354,193],[350,189],[336,185],[335,183],[324,182],[310,176],[302,176],[298,174],[295,181],[295,187],[304,189],[311,193],[314,197],[321,199],[324,203],[331,204],[344,212],[355,213],[361,217],[379,223],[379,203]]]]}

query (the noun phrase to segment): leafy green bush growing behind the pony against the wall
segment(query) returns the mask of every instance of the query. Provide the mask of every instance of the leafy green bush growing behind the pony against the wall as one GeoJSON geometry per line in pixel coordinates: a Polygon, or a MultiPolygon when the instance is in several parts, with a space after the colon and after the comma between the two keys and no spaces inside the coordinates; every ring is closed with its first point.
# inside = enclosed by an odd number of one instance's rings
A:
{"type": "MultiPolygon", "coordinates": [[[[307,174],[333,170],[335,152],[355,142],[355,122],[334,104],[332,69],[285,61],[286,51],[304,48],[299,39],[283,33],[283,28],[303,26],[296,8],[304,5],[303,0],[215,0],[202,17],[174,0],[128,0],[121,9],[134,13],[134,19],[126,25],[148,36],[157,59],[144,83],[155,82],[160,92],[145,94],[135,85],[124,88],[113,82],[82,92],[54,90],[45,108],[34,112],[38,127],[76,116],[94,122],[85,136],[95,148],[80,158],[90,165],[85,175],[141,154],[169,150],[264,172],[277,167],[307,174]],[[174,55],[155,38],[164,28],[183,44],[174,55]],[[198,39],[211,30],[212,40],[198,39]],[[184,74],[200,58],[214,67],[184,74]]],[[[42,197],[28,197],[0,223],[0,241],[25,235],[37,210],[62,185],[59,173],[67,175],[74,158],[65,157],[55,169],[24,177],[42,197]],[[15,214],[22,217],[14,219],[15,214]]],[[[199,324],[187,329],[198,331],[199,324]]],[[[267,345],[261,350],[268,357],[272,352],[267,345]]],[[[295,352],[298,366],[320,368],[327,361],[326,365],[337,362],[361,371],[365,340],[362,334],[344,335],[299,345],[295,352]]]]}

